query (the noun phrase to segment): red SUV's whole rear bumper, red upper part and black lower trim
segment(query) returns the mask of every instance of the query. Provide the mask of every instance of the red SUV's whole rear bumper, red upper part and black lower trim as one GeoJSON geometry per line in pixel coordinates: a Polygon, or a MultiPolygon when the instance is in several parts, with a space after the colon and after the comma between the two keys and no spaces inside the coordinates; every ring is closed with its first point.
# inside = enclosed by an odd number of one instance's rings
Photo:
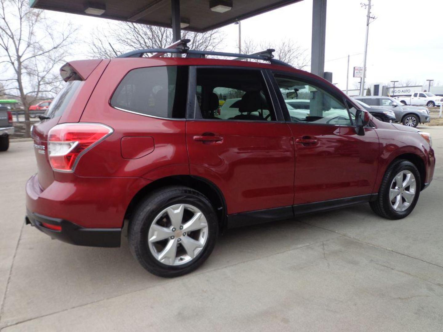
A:
{"type": "MultiPolygon", "coordinates": [[[[132,197],[150,181],[142,178],[84,178],[57,174],[46,189],[37,175],[26,183],[27,223],[67,243],[118,247],[132,197]],[[43,223],[61,226],[61,230],[43,223]]],[[[58,228],[58,227],[56,227],[58,228]]]]}

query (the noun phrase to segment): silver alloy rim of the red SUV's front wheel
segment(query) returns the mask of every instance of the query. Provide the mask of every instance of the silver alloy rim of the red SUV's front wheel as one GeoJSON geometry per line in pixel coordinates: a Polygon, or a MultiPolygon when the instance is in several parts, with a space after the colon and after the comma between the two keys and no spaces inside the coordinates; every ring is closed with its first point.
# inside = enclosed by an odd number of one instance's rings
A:
{"type": "Polygon", "coordinates": [[[416,179],[414,174],[408,170],[402,170],[391,182],[389,200],[395,211],[404,211],[414,201],[416,194],[416,179]]]}

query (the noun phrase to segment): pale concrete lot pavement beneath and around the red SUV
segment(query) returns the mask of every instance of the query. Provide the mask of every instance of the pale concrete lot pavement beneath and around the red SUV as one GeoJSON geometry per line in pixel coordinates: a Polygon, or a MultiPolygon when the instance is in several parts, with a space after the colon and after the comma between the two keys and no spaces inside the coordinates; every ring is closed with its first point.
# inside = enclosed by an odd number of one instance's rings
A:
{"type": "Polygon", "coordinates": [[[175,279],[146,272],[126,239],[77,247],[24,226],[34,149],[11,143],[0,154],[0,329],[441,331],[443,127],[419,129],[431,133],[437,164],[406,219],[364,204],[231,230],[201,268],[175,279]]]}

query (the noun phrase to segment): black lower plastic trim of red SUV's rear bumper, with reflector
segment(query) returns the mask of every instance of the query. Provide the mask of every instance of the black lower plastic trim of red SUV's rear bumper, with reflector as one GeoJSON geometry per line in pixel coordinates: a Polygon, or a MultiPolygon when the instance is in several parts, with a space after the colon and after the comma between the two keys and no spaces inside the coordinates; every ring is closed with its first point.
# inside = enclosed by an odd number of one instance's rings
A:
{"type": "Polygon", "coordinates": [[[89,247],[120,247],[121,228],[84,228],[68,220],[51,218],[38,213],[26,211],[25,223],[31,224],[39,231],[53,239],[89,247]],[[44,224],[55,226],[54,230],[44,224]]]}

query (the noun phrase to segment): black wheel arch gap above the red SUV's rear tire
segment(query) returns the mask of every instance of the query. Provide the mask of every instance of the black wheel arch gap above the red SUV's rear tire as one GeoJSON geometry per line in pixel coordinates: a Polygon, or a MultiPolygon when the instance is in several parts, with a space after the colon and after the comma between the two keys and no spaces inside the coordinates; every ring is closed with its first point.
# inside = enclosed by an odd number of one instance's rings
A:
{"type": "Polygon", "coordinates": [[[130,219],[132,212],[136,209],[137,205],[146,196],[148,196],[152,191],[160,189],[163,187],[168,187],[171,185],[182,185],[205,195],[211,202],[214,211],[218,217],[219,231],[224,231],[226,228],[226,201],[221,190],[213,182],[198,176],[193,175],[174,175],[165,178],[160,178],[158,180],[152,181],[148,185],[140,189],[132,200],[130,201],[128,208],[124,215],[124,219],[130,219]]]}

